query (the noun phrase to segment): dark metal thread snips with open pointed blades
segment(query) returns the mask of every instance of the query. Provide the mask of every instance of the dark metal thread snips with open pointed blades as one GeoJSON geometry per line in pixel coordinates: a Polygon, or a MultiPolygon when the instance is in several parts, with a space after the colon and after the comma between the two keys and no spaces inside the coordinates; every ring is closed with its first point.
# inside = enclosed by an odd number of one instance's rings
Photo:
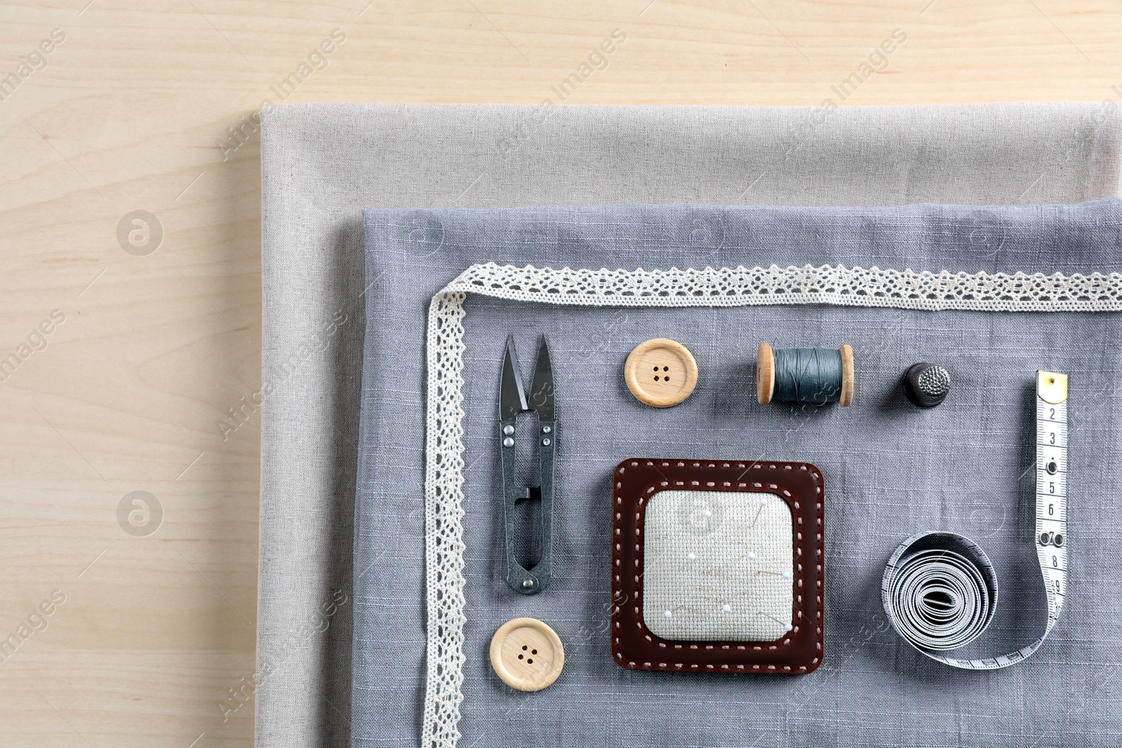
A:
{"type": "MultiPolygon", "coordinates": [[[[535,594],[550,583],[553,556],[553,451],[557,447],[557,417],[553,408],[553,364],[550,348],[542,336],[537,347],[530,398],[522,385],[514,335],[506,339],[506,355],[499,380],[499,462],[503,467],[503,521],[506,529],[506,583],[519,594],[535,594]],[[518,486],[515,461],[518,414],[532,410],[537,415],[533,438],[537,442],[537,464],[541,486],[518,486]],[[518,501],[539,501],[541,507],[541,546],[537,562],[523,569],[515,557],[515,506],[518,501]]],[[[522,431],[531,431],[524,426],[522,431]]]]}

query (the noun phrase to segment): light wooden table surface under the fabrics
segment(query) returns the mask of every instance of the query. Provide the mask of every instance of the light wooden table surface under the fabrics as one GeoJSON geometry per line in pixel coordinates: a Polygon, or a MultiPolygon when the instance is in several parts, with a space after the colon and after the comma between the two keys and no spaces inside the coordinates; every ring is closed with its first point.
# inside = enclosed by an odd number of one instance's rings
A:
{"type": "Polygon", "coordinates": [[[1113,0],[6,3],[0,744],[252,741],[258,423],[220,425],[260,381],[242,118],[539,103],[616,28],[567,103],[819,104],[866,64],[845,104],[1122,102],[1113,0]]]}

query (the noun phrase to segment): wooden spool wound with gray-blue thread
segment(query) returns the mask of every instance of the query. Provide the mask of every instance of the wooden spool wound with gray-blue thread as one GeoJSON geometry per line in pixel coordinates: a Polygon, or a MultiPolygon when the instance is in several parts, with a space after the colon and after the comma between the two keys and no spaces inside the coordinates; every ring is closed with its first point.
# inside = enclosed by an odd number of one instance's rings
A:
{"type": "Polygon", "coordinates": [[[824,348],[773,351],[769,343],[760,343],[756,353],[760,405],[775,399],[778,403],[846,406],[853,401],[853,349],[848,345],[843,343],[837,351],[824,348]]]}

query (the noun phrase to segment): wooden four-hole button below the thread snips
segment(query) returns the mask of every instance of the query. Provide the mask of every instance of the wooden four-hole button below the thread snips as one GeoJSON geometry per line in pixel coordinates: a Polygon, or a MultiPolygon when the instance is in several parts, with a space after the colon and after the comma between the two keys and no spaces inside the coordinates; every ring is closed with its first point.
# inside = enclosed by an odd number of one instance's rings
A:
{"type": "Polygon", "coordinates": [[[512,689],[541,691],[564,667],[564,647],[557,631],[536,618],[515,618],[491,637],[491,667],[512,689]]]}

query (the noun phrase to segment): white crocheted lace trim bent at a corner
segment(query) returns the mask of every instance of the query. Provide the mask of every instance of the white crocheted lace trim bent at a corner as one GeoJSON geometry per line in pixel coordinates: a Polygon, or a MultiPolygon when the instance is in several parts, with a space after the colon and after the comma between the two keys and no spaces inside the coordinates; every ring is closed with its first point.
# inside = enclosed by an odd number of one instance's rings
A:
{"type": "Polygon", "coordinates": [[[1122,311],[1122,275],[914,273],[843,266],[573,270],[473,265],[429,307],[425,414],[425,748],[451,748],[463,696],[463,301],[579,306],[834,304],[988,312],[1122,311]]]}

